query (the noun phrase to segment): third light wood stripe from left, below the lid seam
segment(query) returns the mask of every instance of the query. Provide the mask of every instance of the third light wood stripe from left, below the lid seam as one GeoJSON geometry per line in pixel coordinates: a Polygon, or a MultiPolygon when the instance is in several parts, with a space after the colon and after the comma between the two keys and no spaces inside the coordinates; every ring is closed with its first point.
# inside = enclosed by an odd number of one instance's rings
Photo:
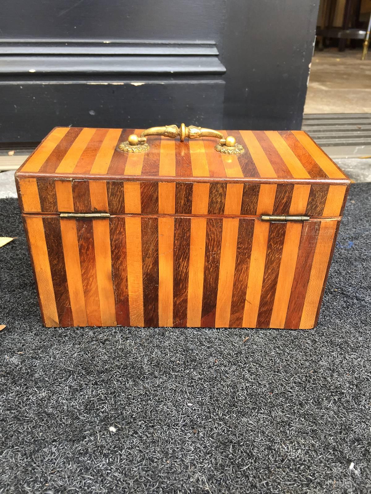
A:
{"type": "Polygon", "coordinates": [[[116,326],[109,219],[93,220],[96,279],[102,326],[116,326]]]}

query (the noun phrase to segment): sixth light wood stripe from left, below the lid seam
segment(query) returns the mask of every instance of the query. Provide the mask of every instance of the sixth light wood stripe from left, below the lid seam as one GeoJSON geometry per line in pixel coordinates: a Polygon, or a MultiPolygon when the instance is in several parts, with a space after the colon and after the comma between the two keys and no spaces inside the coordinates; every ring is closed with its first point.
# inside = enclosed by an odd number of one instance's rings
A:
{"type": "Polygon", "coordinates": [[[190,328],[198,328],[201,325],[206,222],[206,218],[191,218],[190,220],[187,300],[187,326],[190,328]]]}

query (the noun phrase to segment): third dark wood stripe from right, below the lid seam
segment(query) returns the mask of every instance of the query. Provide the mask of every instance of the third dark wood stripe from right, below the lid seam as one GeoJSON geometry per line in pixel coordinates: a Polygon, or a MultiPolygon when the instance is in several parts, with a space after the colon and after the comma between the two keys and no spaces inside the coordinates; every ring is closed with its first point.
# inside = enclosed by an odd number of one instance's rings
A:
{"type": "Polygon", "coordinates": [[[243,311],[245,308],[253,236],[254,220],[240,219],[232,291],[231,328],[241,328],[243,325],[243,311]]]}

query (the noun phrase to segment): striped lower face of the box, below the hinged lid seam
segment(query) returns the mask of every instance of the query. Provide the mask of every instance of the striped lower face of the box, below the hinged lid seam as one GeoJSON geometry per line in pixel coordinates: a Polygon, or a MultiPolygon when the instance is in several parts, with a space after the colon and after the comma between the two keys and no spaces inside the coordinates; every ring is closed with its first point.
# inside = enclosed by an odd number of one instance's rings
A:
{"type": "Polygon", "coordinates": [[[315,326],[339,221],[25,215],[46,326],[315,326]]]}

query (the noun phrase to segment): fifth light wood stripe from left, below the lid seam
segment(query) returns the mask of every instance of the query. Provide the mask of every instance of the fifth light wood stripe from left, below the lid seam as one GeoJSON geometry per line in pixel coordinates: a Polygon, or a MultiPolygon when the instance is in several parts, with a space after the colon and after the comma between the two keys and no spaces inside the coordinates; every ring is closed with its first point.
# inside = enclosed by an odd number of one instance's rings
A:
{"type": "Polygon", "coordinates": [[[174,218],[158,218],[158,322],[173,326],[174,218]]]}

